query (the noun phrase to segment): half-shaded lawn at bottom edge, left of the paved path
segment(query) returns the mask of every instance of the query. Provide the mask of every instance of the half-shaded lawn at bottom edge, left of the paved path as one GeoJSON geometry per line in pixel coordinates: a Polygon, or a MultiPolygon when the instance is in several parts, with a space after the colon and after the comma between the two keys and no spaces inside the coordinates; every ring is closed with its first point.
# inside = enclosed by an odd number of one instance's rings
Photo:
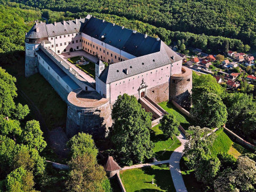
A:
{"type": "Polygon", "coordinates": [[[175,191],[168,164],[124,170],[121,179],[127,192],[175,191]]]}

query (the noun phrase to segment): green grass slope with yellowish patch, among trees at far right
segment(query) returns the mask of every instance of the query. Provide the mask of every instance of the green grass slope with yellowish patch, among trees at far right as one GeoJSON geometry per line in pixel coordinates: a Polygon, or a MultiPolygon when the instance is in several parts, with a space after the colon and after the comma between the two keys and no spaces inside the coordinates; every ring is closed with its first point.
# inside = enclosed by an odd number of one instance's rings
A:
{"type": "Polygon", "coordinates": [[[217,138],[211,146],[211,153],[213,156],[217,156],[220,153],[228,153],[237,158],[241,154],[250,152],[249,150],[233,142],[223,131],[223,129],[216,131],[215,134],[217,134],[217,138]]]}

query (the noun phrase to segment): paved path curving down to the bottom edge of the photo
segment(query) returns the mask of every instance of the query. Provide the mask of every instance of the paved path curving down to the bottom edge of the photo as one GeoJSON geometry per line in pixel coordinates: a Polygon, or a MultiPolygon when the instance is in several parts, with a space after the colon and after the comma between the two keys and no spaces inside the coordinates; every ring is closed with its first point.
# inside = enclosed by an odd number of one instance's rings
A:
{"type": "Polygon", "coordinates": [[[169,159],[170,171],[171,171],[172,181],[176,191],[187,192],[187,188],[185,186],[185,183],[183,181],[181,171],[180,171],[180,159],[183,156],[182,152],[184,149],[184,144],[187,142],[187,140],[183,133],[180,133],[180,135],[177,138],[180,140],[181,146],[176,148],[173,151],[169,159]]]}

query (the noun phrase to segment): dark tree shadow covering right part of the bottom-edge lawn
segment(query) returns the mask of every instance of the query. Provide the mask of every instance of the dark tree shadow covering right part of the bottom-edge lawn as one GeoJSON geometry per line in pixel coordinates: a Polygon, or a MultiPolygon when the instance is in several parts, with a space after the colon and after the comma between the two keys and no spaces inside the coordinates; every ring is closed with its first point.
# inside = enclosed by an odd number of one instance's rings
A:
{"type": "MultiPolygon", "coordinates": [[[[144,171],[145,174],[155,175],[154,183],[156,183],[157,187],[161,188],[162,190],[166,190],[166,191],[175,191],[175,188],[174,188],[174,185],[172,182],[171,172],[170,172],[168,164],[155,165],[154,168],[153,168],[153,166],[147,166],[147,167],[143,167],[142,170],[144,171]]],[[[139,191],[146,192],[146,191],[159,191],[159,190],[157,190],[157,189],[137,190],[137,192],[139,192],[139,191]]]]}

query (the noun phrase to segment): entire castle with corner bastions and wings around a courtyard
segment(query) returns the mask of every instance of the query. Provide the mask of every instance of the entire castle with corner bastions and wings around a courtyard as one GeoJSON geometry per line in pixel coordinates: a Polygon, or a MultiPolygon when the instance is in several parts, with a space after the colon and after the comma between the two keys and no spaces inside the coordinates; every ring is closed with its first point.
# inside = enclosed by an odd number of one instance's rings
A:
{"type": "Polygon", "coordinates": [[[81,131],[104,135],[118,95],[146,97],[154,103],[170,99],[180,105],[190,96],[190,69],[182,67],[182,58],[161,39],[91,15],[36,22],[25,44],[25,75],[39,72],[66,101],[69,137],[81,131]],[[95,79],[67,60],[74,55],[95,62],[95,79]]]}

